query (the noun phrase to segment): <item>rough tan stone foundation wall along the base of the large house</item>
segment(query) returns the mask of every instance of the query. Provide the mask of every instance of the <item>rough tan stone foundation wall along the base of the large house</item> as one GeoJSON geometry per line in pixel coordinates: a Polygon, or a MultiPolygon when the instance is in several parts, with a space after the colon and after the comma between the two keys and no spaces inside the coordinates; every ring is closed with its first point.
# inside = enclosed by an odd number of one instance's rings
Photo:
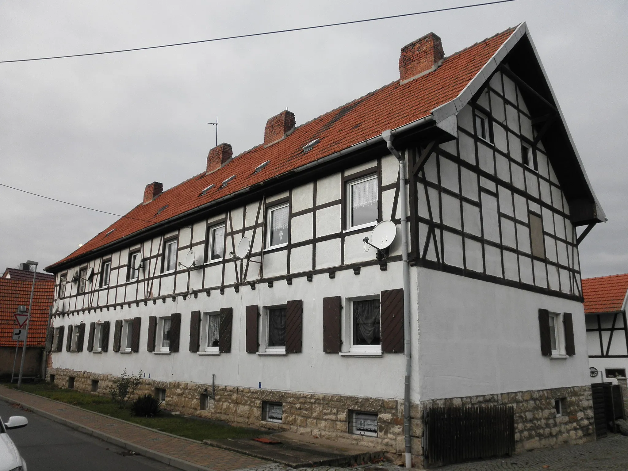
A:
{"type": "MultiPolygon", "coordinates": [[[[74,388],[92,391],[92,380],[99,381],[96,394],[107,394],[112,386],[111,375],[50,369],[55,384],[68,387],[73,377],[74,388]]],[[[46,379],[50,380],[50,376],[46,379]]],[[[403,400],[339,396],[336,394],[293,393],[236,386],[215,386],[180,381],[143,379],[137,394],[154,394],[156,387],[166,389],[164,407],[231,425],[249,426],[267,430],[291,431],[313,435],[342,443],[376,447],[387,453],[394,462],[401,462],[404,453],[403,400]],[[207,394],[207,409],[200,410],[201,394],[207,394]],[[263,401],[283,404],[283,423],[262,420],[263,401]],[[349,433],[349,411],[367,411],[378,414],[377,437],[349,433]]],[[[413,403],[412,453],[415,465],[421,465],[423,447],[423,409],[432,406],[478,406],[482,404],[512,404],[515,413],[516,451],[572,445],[595,440],[593,404],[590,386],[563,387],[541,391],[489,394],[466,398],[438,399],[413,403]],[[563,414],[556,416],[555,399],[565,399],[563,414]]]]}

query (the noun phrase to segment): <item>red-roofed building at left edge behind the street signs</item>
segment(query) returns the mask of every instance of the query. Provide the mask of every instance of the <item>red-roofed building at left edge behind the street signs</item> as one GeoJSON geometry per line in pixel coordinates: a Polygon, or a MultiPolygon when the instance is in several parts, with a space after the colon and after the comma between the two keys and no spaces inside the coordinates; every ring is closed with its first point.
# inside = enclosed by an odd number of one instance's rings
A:
{"type": "MultiPolygon", "coordinates": [[[[24,268],[27,269],[7,268],[0,278],[0,377],[4,378],[11,377],[17,345],[17,341],[13,340],[13,329],[18,328],[18,325],[13,314],[18,306],[26,306],[28,309],[33,286],[33,272],[30,267],[24,268]]],[[[48,273],[37,273],[23,376],[43,376],[46,325],[54,291],[54,277],[48,273]]],[[[22,345],[20,342],[16,374],[22,358],[22,345]]]]}

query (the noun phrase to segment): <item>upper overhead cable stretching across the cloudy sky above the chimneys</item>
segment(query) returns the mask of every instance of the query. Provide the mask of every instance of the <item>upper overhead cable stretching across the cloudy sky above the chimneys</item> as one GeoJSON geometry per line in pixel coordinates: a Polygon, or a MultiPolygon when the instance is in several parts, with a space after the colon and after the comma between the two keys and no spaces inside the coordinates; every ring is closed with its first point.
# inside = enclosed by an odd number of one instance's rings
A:
{"type": "Polygon", "coordinates": [[[514,2],[514,1],[517,1],[517,0],[497,0],[497,1],[492,1],[492,2],[474,3],[471,5],[452,6],[449,8],[438,8],[435,10],[415,11],[413,13],[402,13],[402,14],[393,14],[389,16],[379,16],[377,18],[355,19],[353,21],[342,21],[341,23],[317,24],[316,26],[303,26],[302,28],[290,28],[288,30],[264,31],[263,33],[249,33],[247,35],[224,36],[222,38],[212,38],[212,39],[200,40],[200,41],[186,41],[184,43],[163,44],[159,46],[146,46],[146,47],[141,47],[141,48],[118,49],[118,50],[112,50],[112,51],[88,52],[88,53],[83,53],[83,54],[68,54],[68,55],[50,56],[50,57],[33,57],[33,58],[28,58],[28,59],[0,60],[0,63],[31,62],[35,60],[65,59],[69,57],[97,56],[97,55],[104,55],[104,54],[115,54],[119,52],[146,51],[149,49],[170,48],[174,46],[186,46],[190,44],[200,44],[200,43],[212,43],[215,41],[226,41],[226,40],[239,39],[239,38],[252,38],[254,36],[277,35],[279,33],[291,33],[293,31],[317,30],[320,28],[330,28],[331,26],[344,26],[345,24],[367,23],[369,21],[380,21],[382,19],[404,18],[406,16],[416,16],[420,14],[438,13],[440,11],[460,10],[464,8],[474,8],[477,6],[495,5],[498,3],[509,3],[509,2],[514,2]]]}

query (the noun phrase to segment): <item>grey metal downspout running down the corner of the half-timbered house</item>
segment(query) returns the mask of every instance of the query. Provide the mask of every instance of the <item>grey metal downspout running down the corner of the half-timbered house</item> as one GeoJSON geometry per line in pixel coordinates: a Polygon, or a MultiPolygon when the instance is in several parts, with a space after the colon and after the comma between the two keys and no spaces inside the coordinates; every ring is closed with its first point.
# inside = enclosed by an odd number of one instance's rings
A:
{"type": "Polygon", "coordinates": [[[382,133],[388,150],[399,161],[399,212],[401,212],[401,264],[403,268],[403,353],[406,357],[406,374],[403,388],[403,428],[406,442],[406,468],[412,467],[412,443],[410,440],[410,374],[412,372],[410,342],[410,266],[408,263],[408,207],[406,202],[406,159],[393,146],[390,130],[382,133]]]}

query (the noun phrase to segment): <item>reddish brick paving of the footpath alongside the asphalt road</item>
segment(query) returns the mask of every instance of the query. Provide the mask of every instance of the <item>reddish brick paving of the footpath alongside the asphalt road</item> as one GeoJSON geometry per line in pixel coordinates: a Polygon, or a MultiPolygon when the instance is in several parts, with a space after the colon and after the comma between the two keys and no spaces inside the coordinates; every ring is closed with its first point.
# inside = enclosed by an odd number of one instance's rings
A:
{"type": "Polygon", "coordinates": [[[166,435],[159,431],[108,418],[100,414],[91,413],[85,409],[51,401],[33,394],[25,394],[8,387],[0,386],[0,396],[24,404],[24,406],[72,421],[78,425],[106,433],[139,447],[148,448],[154,452],[163,453],[164,455],[187,461],[193,465],[211,468],[215,471],[261,467],[268,464],[266,460],[210,447],[198,441],[166,435]]]}

